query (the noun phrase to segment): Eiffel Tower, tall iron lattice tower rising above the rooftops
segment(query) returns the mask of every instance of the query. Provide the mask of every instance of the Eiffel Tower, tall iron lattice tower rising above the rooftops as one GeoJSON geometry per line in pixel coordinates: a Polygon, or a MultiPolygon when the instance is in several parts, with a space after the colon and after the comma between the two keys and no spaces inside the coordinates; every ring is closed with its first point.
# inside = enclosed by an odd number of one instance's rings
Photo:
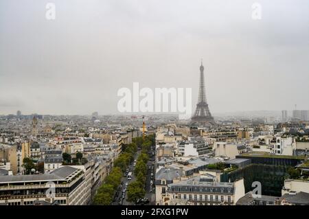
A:
{"type": "Polygon", "coordinates": [[[191,118],[191,121],[194,125],[214,126],[216,123],[214,122],[214,117],[211,116],[206,101],[203,61],[201,62],[200,71],[201,73],[200,88],[198,90],[198,104],[196,104],[196,110],[194,116],[191,118]]]}

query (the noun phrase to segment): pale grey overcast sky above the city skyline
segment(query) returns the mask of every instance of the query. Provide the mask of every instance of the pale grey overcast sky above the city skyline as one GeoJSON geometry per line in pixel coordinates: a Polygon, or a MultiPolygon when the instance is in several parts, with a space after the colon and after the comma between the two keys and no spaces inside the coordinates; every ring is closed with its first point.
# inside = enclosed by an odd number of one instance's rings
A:
{"type": "Polygon", "coordinates": [[[0,115],[118,113],[133,82],[195,105],[201,58],[212,113],[309,109],[308,1],[254,2],[0,0],[0,115]]]}

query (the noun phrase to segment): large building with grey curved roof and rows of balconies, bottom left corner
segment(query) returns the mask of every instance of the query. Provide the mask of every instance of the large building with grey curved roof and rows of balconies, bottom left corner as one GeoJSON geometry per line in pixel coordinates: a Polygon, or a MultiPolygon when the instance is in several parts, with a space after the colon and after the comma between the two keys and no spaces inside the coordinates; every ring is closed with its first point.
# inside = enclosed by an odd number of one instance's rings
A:
{"type": "Polygon", "coordinates": [[[0,204],[32,205],[37,200],[60,205],[87,205],[87,176],[64,166],[48,174],[0,176],[0,204]]]}

